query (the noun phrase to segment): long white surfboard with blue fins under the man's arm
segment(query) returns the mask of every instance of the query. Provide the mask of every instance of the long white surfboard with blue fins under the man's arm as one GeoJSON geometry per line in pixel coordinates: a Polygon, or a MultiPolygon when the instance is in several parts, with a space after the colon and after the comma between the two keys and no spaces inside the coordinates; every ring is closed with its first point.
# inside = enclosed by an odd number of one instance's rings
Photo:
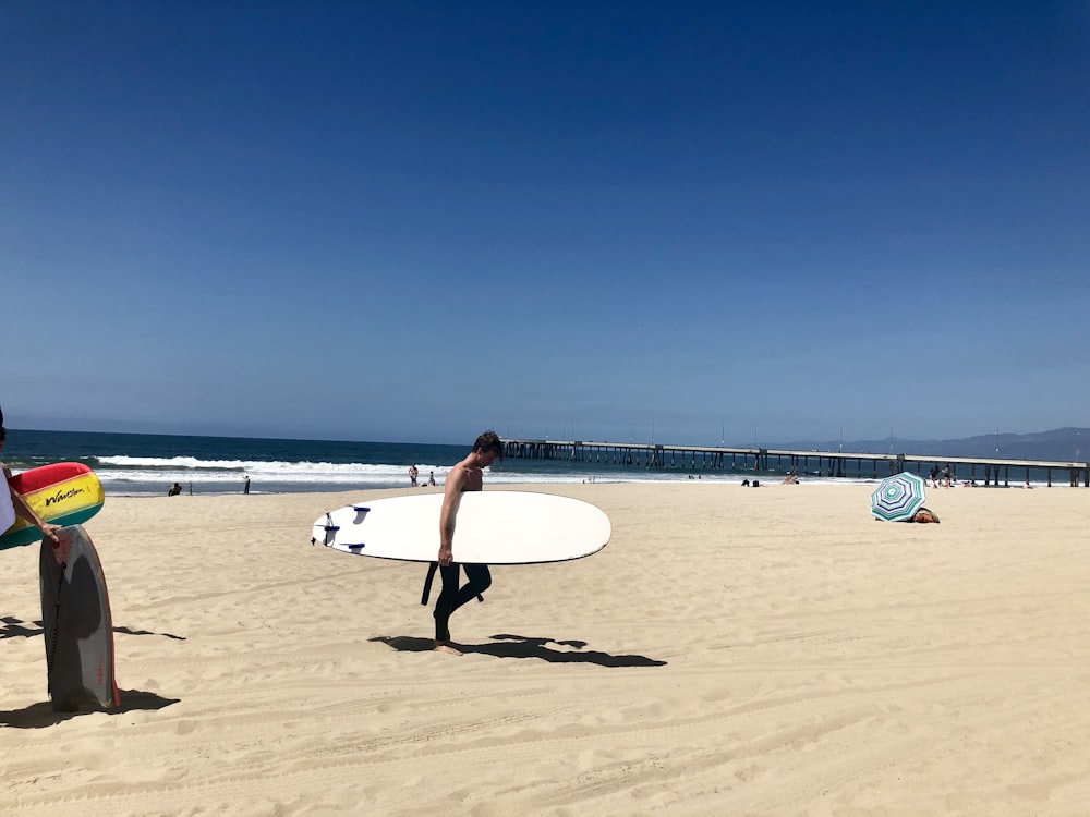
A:
{"type": "MultiPolygon", "coordinates": [[[[376,499],[319,516],[312,542],[355,556],[434,562],[439,551],[441,493],[376,499]]],[[[611,534],[602,509],[530,491],[468,491],[455,523],[455,561],[536,564],[581,559],[611,534]]]]}

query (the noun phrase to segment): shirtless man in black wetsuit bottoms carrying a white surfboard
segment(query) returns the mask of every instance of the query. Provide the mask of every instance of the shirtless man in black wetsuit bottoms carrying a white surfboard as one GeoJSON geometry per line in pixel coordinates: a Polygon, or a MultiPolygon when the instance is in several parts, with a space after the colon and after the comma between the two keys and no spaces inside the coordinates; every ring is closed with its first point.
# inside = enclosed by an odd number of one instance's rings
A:
{"type": "Polygon", "coordinates": [[[484,593],[492,585],[492,573],[487,564],[464,564],[455,561],[455,521],[462,493],[484,488],[484,470],[496,460],[504,459],[504,443],[495,431],[485,431],[476,438],[470,455],[458,463],[447,474],[443,492],[443,510],[439,511],[439,575],[443,592],[435,601],[435,649],[460,656],[461,651],[450,643],[450,615],[474,596],[484,593]],[[467,583],[459,588],[459,571],[465,568],[467,583]]]}

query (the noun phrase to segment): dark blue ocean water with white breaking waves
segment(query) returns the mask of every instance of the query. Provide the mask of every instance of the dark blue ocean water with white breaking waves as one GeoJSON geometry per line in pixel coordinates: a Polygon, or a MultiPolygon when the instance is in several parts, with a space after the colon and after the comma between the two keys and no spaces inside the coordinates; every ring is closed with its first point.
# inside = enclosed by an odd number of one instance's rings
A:
{"type": "MultiPolygon", "coordinates": [[[[472,440],[464,446],[435,446],[9,429],[0,456],[16,473],[53,462],[85,463],[98,473],[106,492],[114,496],[164,496],[174,483],[183,492],[238,493],[245,476],[251,493],[293,493],[408,487],[413,463],[421,485],[429,472],[441,485],[471,448],[472,440]]],[[[720,483],[755,477],[771,483],[782,479],[783,472],[507,459],[488,470],[485,483],[673,483],[690,477],[720,483]]],[[[871,480],[804,477],[804,481],[871,480]]]]}

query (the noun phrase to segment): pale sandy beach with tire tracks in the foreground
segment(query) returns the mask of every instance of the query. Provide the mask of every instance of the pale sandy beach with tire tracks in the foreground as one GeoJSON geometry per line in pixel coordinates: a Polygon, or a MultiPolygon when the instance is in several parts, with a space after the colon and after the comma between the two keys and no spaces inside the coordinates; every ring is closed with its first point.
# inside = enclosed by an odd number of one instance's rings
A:
{"type": "Polygon", "coordinates": [[[52,712],[0,553],[0,814],[1088,813],[1090,490],[542,489],[613,540],[494,568],[462,657],[423,565],[311,546],[359,493],[108,499],[112,714],[52,712]]]}

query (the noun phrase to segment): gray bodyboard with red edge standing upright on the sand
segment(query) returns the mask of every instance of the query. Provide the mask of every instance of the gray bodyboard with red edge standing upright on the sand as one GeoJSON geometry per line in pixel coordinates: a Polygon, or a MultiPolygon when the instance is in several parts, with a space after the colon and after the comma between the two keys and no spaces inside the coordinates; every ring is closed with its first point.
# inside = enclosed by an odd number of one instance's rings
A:
{"type": "Polygon", "coordinates": [[[49,697],[56,711],[120,703],[113,674],[113,620],[98,551],[82,525],[41,540],[38,558],[49,697]]]}

